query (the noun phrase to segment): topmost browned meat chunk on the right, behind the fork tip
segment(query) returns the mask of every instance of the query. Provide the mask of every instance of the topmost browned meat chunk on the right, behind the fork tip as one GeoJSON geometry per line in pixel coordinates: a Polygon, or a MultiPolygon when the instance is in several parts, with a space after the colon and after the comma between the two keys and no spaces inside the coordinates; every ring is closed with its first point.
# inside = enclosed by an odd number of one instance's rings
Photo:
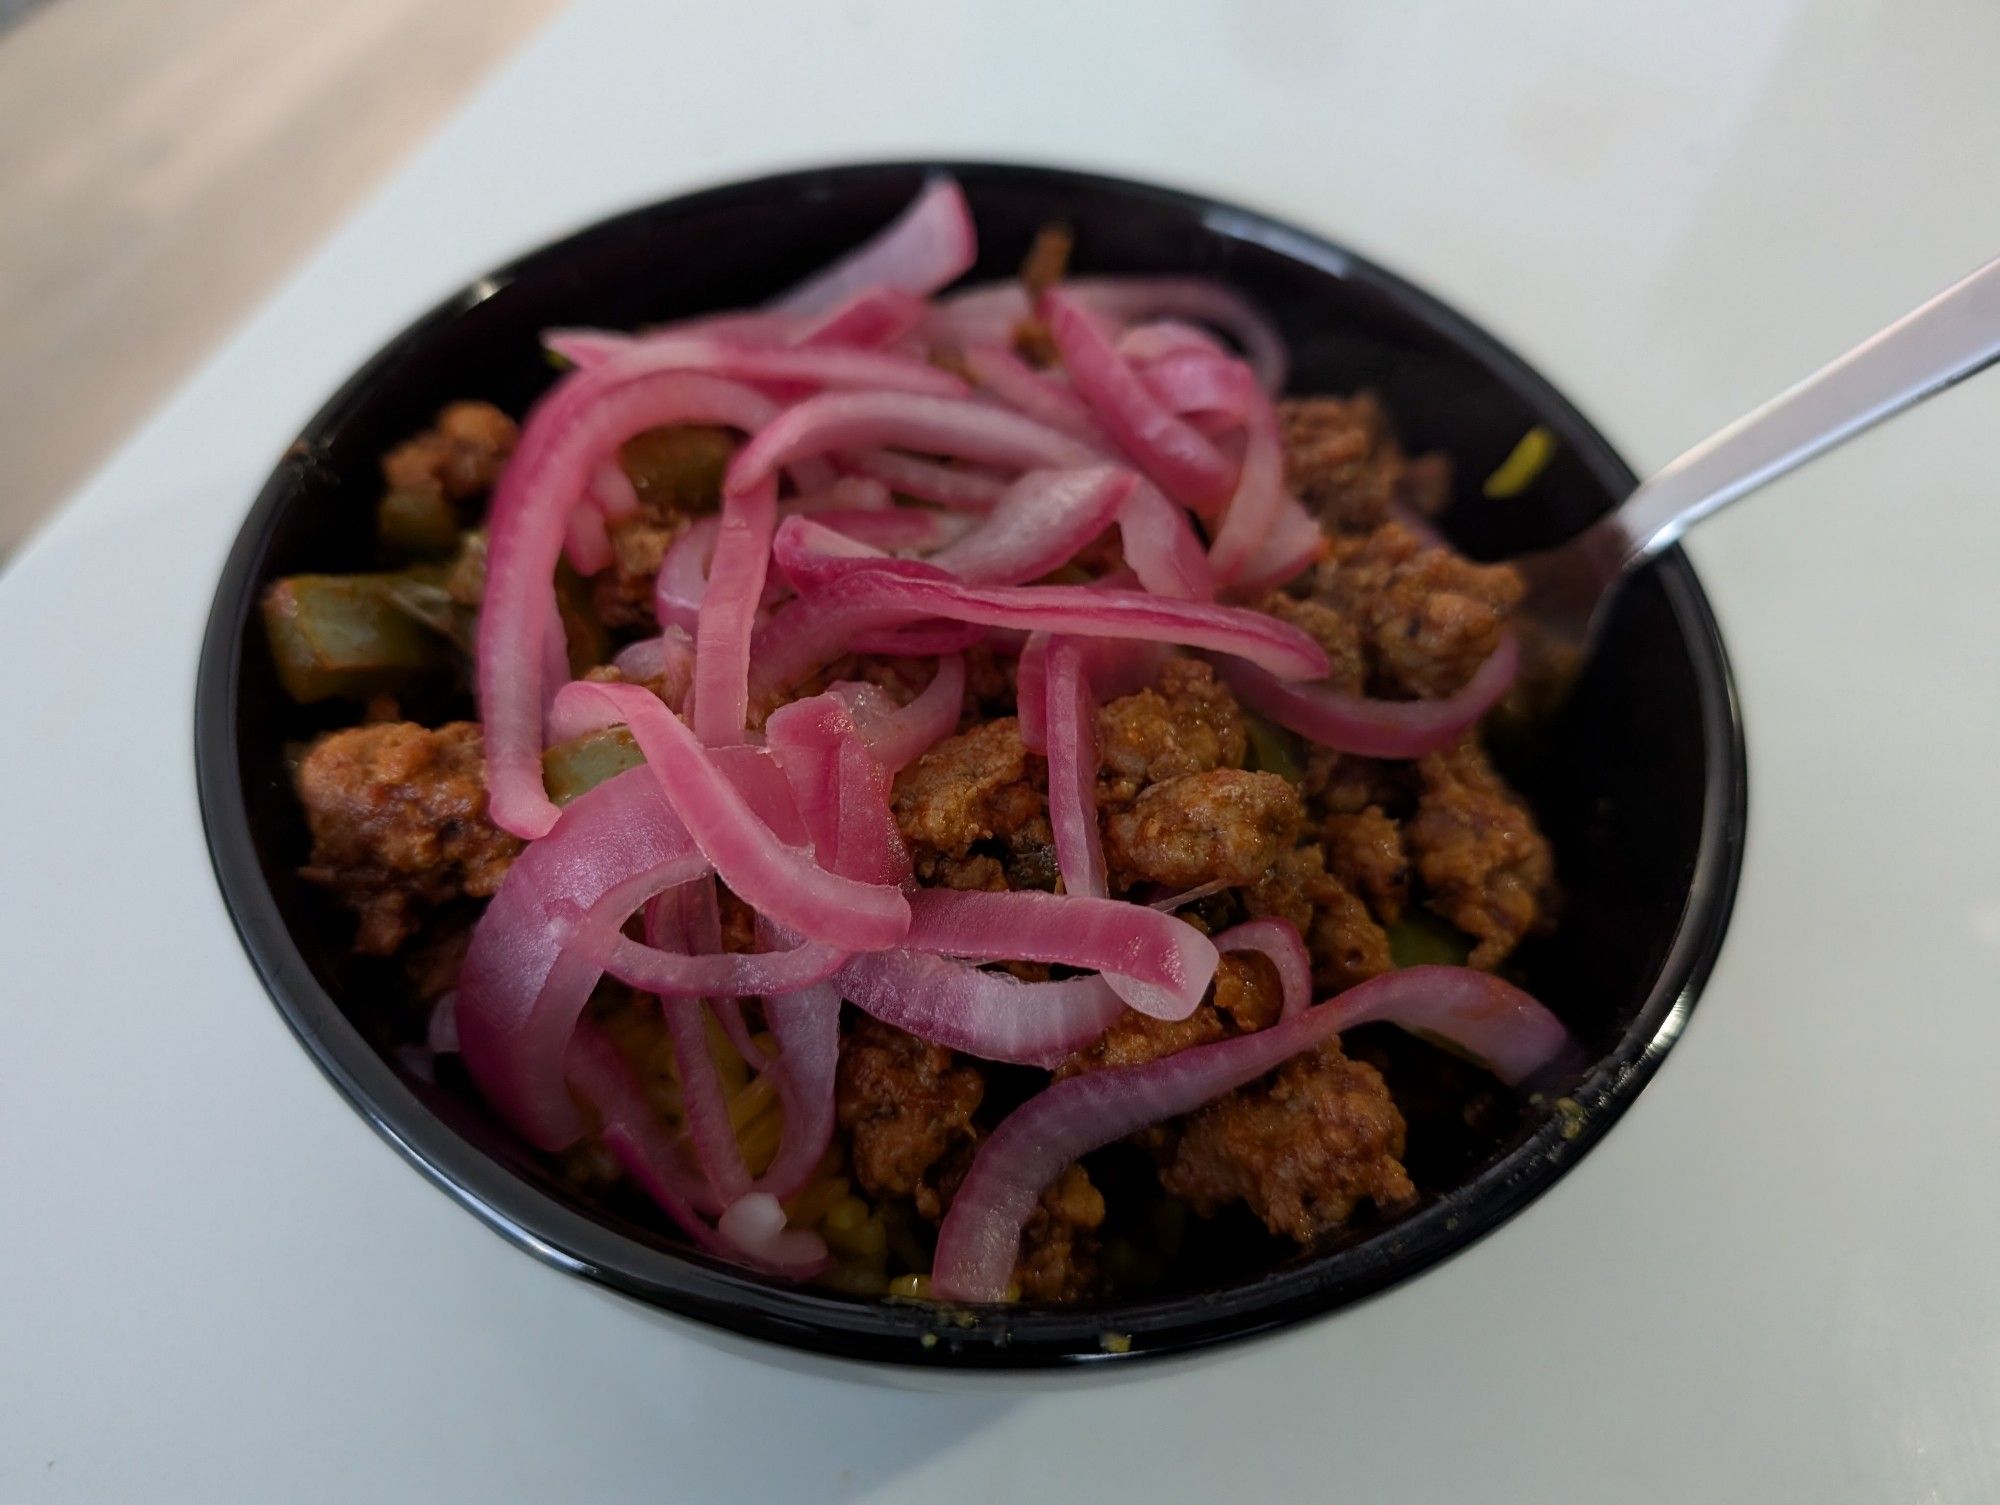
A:
{"type": "Polygon", "coordinates": [[[1450,498],[1450,462],[1406,458],[1368,392],[1290,398],[1278,404],[1278,420],[1286,480],[1334,532],[1368,532],[1396,506],[1430,514],[1450,498]]]}

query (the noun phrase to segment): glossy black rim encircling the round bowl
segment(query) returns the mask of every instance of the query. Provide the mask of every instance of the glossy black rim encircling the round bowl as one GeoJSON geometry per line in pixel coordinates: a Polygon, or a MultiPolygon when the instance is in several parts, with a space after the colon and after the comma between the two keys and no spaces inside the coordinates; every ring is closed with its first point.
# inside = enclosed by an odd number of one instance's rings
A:
{"type": "Polygon", "coordinates": [[[264,883],[242,799],[236,755],[238,664],[258,562],[286,492],[316,460],[318,436],[338,428],[370,386],[408,350],[514,278],[576,252],[598,236],[664,210],[700,210],[762,194],[830,192],[868,176],[954,172],[962,180],[1036,180],[1066,194],[1114,194],[1196,212],[1208,228],[1252,240],[1318,270],[1372,284],[1438,334],[1470,352],[1534,406],[1612,496],[1636,476],[1610,442],[1526,360],[1484,328],[1394,272],[1310,230],[1204,194],[1058,166],[900,160],[778,172],[642,204],[516,256],[472,280],[408,324],[362,364],[288,446],[258,492],[222,570],[202,642],[194,696],[194,755],[202,825],[230,919],[250,961],[320,1071],[374,1129],[434,1185],[510,1243],[652,1307],[788,1349],[840,1359],[942,1369],[1028,1369],[1124,1363],[1188,1353],[1270,1333],[1400,1283],[1470,1247],[1524,1209],[1630,1107],[1686,1029],[1730,923],[1748,821],[1742,710],[1714,614],[1680,550],[1656,570],[1696,672],[1702,706],[1702,831],[1688,903],[1668,957],[1632,1027],[1572,1089],[1566,1113],[1472,1181],[1382,1233],[1296,1267],[1216,1293],[1108,1311],[968,1309],[850,1301],[766,1285],[728,1265],[670,1245],[614,1233],[544,1195],[460,1139],[346,1021],[320,987],[264,883]]]}

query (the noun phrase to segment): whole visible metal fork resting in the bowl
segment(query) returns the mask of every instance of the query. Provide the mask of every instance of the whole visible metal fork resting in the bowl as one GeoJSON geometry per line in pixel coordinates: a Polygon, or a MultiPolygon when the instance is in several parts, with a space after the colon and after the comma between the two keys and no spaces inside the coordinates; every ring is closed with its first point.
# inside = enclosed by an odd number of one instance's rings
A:
{"type": "Polygon", "coordinates": [[[2000,360],[2000,258],[1654,472],[1566,544],[1514,560],[1524,636],[1582,668],[1618,588],[1738,496],[2000,360]]]}

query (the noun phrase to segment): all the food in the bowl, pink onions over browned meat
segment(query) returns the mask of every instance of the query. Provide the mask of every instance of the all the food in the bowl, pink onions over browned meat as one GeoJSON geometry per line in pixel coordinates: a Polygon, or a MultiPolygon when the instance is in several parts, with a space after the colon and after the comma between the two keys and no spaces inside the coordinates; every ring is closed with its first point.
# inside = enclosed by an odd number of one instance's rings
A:
{"type": "Polygon", "coordinates": [[[760,1271],[1094,1301],[1394,1219],[1418,1119],[1498,1141],[1570,1049],[1498,975],[1554,873],[1444,462],[1060,232],[944,294],[972,234],[938,180],[768,308],[550,332],[520,430],[384,456],[394,566],[264,620],[358,706],[306,873],[414,1063],[760,1271]]]}

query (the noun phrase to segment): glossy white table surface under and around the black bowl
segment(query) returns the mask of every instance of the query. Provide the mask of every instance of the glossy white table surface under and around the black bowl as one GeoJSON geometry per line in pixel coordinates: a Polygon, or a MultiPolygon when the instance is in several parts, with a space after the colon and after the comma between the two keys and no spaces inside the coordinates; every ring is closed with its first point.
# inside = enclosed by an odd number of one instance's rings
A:
{"type": "Polygon", "coordinates": [[[0,576],[0,1497],[2000,1499],[1996,378],[1696,538],[1750,857],[1610,1139],[1420,1281],[1134,1383],[790,1373],[506,1247],[292,1043],[188,748],[290,432],[606,210],[926,152],[1214,190],[1456,300],[1644,468],[2000,250],[1996,76],[1992,0],[562,18],[0,576]]]}

